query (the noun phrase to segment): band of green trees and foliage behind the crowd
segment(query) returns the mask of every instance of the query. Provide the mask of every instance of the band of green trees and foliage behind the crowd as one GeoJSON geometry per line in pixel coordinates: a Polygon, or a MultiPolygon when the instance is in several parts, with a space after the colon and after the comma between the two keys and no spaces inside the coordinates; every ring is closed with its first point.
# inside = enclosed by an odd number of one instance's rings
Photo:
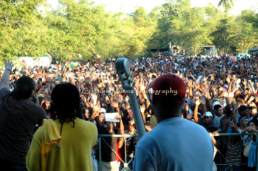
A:
{"type": "Polygon", "coordinates": [[[56,10],[46,0],[0,0],[0,62],[48,53],[57,61],[133,59],[146,49],[168,48],[169,42],[198,54],[200,46],[219,52],[243,52],[258,45],[258,15],[244,10],[230,16],[232,0],[191,7],[190,0],[167,0],[150,13],[137,7],[130,14],[105,12],[89,0],[59,0],[56,10]]]}

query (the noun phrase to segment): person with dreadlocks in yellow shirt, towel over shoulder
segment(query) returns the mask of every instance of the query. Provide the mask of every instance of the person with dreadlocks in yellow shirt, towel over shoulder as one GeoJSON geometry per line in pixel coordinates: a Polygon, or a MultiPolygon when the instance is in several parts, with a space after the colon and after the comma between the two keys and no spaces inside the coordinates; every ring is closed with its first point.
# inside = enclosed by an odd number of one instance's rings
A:
{"type": "Polygon", "coordinates": [[[94,123],[78,118],[79,106],[75,85],[53,88],[51,119],[35,132],[26,158],[29,171],[93,171],[91,148],[98,131],[94,123]]]}

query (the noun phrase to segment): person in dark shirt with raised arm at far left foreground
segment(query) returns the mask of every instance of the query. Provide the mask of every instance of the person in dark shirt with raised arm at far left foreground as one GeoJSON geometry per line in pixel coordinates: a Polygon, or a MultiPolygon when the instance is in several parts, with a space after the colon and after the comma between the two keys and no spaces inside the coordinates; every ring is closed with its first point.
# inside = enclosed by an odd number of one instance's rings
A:
{"type": "Polygon", "coordinates": [[[35,83],[20,77],[11,92],[9,76],[12,61],[6,62],[0,83],[0,164],[6,171],[27,171],[26,155],[36,125],[49,119],[35,96],[35,83]],[[34,98],[34,102],[32,102],[34,98]]]}

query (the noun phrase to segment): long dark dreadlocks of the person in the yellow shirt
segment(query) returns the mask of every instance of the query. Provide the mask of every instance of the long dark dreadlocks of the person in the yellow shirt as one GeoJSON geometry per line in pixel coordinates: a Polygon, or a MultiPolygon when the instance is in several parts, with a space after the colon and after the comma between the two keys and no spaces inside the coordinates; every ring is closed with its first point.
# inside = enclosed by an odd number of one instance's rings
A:
{"type": "Polygon", "coordinates": [[[73,122],[79,116],[80,96],[75,85],[64,83],[55,85],[51,95],[51,119],[59,119],[61,132],[64,122],[73,122]]]}

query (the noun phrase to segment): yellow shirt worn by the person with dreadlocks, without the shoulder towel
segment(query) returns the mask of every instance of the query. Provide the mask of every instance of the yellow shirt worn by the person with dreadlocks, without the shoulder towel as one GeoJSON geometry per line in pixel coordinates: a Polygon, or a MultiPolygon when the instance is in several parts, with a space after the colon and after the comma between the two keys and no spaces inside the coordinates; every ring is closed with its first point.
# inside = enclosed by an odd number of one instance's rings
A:
{"type": "MultiPolygon", "coordinates": [[[[61,123],[54,121],[59,135],[61,123]]],[[[97,144],[98,130],[94,123],[75,119],[65,122],[59,144],[44,143],[46,125],[35,132],[26,157],[28,171],[93,171],[91,149],[97,144]]]]}

